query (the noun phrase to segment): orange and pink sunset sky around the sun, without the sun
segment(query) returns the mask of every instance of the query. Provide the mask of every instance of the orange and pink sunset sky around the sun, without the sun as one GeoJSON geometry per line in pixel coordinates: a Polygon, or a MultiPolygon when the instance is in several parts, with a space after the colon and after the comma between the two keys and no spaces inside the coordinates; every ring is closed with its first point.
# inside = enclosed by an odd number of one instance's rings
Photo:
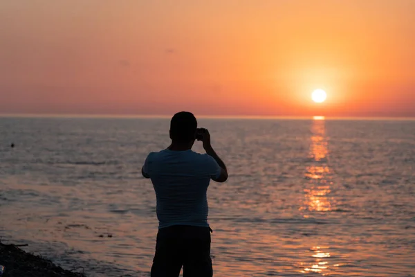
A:
{"type": "Polygon", "coordinates": [[[2,0],[0,114],[412,117],[414,10],[413,0],[2,0]]]}

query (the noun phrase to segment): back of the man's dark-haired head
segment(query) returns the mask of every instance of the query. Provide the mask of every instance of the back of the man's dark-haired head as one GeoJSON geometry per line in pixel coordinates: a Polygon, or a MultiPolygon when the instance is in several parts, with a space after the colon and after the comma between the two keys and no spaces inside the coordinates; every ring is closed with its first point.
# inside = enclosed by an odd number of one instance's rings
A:
{"type": "Polygon", "coordinates": [[[170,121],[170,138],[173,141],[187,143],[194,140],[196,129],[197,120],[191,112],[178,112],[170,121]]]}

